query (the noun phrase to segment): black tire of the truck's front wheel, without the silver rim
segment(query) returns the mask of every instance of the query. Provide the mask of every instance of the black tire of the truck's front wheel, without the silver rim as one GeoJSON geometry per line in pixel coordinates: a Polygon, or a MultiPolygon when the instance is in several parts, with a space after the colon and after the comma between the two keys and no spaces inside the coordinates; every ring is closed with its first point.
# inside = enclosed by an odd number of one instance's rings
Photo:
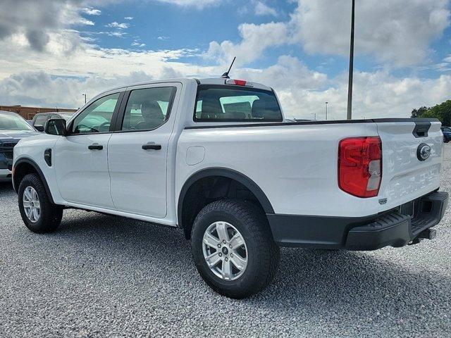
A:
{"type": "Polygon", "coordinates": [[[36,174],[28,174],[23,177],[23,180],[20,181],[19,189],[18,189],[18,204],[20,210],[20,216],[22,216],[23,223],[25,223],[26,227],[32,232],[36,232],[38,234],[43,234],[46,232],[52,232],[56,230],[56,228],[61,223],[61,218],[63,218],[63,207],[56,206],[55,204],[51,204],[49,200],[49,196],[47,196],[46,189],[44,187],[44,183],[36,174]],[[23,194],[27,187],[32,187],[37,192],[37,196],[39,196],[39,204],[40,204],[40,215],[37,222],[32,222],[26,215],[25,209],[23,207],[23,194]]]}

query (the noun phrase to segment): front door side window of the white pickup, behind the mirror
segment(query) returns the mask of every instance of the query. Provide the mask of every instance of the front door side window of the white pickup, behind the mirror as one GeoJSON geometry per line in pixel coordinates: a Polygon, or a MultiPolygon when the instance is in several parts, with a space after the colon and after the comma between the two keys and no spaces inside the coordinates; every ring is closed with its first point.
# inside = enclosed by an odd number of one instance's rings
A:
{"type": "Polygon", "coordinates": [[[82,111],[73,121],[72,134],[109,132],[119,93],[104,96],[82,111]]]}

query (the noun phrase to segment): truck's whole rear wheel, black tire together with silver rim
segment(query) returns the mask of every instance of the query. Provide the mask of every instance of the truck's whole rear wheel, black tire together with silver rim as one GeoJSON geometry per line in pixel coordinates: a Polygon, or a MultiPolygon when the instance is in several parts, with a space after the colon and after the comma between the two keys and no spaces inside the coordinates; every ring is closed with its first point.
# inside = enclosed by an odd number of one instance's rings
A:
{"type": "Polygon", "coordinates": [[[260,208],[223,199],[205,206],[194,220],[192,255],[206,284],[242,299],[271,282],[280,253],[260,208]]]}

